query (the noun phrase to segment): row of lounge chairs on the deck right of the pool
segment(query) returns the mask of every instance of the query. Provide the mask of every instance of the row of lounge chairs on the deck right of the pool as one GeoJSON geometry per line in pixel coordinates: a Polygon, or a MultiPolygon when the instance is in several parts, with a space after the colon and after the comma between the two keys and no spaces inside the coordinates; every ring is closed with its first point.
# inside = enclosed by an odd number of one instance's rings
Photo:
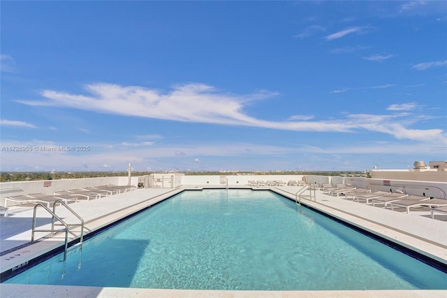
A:
{"type": "Polygon", "coordinates": [[[408,195],[399,192],[371,192],[371,190],[366,188],[349,187],[346,185],[332,187],[330,184],[323,184],[322,190],[325,194],[336,195],[344,199],[353,199],[353,201],[358,202],[365,201],[366,204],[372,204],[373,206],[377,204],[383,204],[384,208],[390,206],[391,210],[403,207],[406,209],[406,213],[410,213],[411,208],[429,207],[432,218],[434,218],[434,213],[447,213],[447,199],[432,199],[430,197],[408,195]]]}

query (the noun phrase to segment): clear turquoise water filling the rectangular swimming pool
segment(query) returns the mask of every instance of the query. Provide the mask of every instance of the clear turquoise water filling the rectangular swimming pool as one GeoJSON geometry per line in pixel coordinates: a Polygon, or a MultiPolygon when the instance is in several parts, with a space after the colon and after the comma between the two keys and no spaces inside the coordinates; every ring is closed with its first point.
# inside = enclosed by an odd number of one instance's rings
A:
{"type": "Polygon", "coordinates": [[[268,191],[177,194],[6,283],[213,290],[447,289],[447,274],[268,191]]]}

